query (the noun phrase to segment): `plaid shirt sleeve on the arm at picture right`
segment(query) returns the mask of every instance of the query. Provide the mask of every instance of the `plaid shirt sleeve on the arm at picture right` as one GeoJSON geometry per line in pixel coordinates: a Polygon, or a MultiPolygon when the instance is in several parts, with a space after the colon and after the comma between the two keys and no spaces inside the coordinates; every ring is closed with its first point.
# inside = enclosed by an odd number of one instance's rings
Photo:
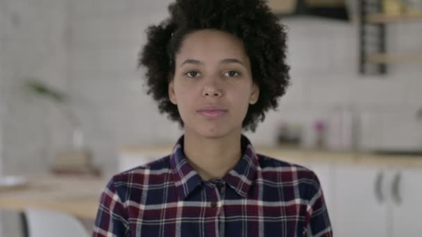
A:
{"type": "Polygon", "coordinates": [[[323,191],[318,177],[312,172],[312,188],[310,188],[310,201],[307,205],[305,223],[305,234],[303,236],[332,237],[332,227],[323,191]]]}

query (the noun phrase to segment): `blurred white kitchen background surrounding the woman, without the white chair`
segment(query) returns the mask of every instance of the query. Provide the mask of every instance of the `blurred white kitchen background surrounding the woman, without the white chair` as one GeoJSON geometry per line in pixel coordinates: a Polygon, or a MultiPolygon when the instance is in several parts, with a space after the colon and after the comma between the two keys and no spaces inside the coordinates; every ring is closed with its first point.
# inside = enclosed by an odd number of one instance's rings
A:
{"type": "MultiPolygon", "coordinates": [[[[137,69],[170,2],[0,1],[0,236],[31,236],[28,207],[90,231],[111,175],[171,152],[137,69]]],[[[422,1],[269,4],[292,85],[246,136],[315,170],[336,236],[422,236],[422,1]]]]}

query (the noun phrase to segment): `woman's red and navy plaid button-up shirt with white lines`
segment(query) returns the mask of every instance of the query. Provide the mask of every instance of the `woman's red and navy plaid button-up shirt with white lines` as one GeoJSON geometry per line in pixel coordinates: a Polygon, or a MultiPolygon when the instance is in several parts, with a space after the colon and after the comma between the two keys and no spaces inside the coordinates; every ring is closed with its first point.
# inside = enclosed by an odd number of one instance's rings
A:
{"type": "Polygon", "coordinates": [[[242,157],[205,182],[183,152],[115,175],[101,195],[92,236],[332,236],[316,175],[258,155],[242,135],[242,157]]]}

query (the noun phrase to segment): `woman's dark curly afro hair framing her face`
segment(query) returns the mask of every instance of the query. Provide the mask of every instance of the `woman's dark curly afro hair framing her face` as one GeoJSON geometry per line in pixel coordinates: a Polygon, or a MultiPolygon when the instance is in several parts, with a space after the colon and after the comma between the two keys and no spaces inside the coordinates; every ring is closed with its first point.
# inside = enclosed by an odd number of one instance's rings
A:
{"type": "Polygon", "coordinates": [[[242,40],[251,61],[253,82],[260,88],[260,96],[257,103],[249,105],[242,127],[255,132],[265,112],[278,107],[278,98],[289,85],[287,27],[278,23],[265,0],[176,0],[169,5],[169,12],[169,18],[146,29],[147,42],[138,64],[146,68],[147,94],[158,102],[160,113],[167,113],[169,119],[183,127],[177,105],[171,103],[168,94],[175,55],[187,34],[217,29],[242,40]]]}

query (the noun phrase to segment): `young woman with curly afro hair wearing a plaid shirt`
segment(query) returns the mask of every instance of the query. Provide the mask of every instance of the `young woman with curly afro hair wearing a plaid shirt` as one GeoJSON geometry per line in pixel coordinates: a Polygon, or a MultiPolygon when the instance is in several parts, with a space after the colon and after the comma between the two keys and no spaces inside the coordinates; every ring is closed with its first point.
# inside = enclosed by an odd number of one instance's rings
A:
{"type": "Polygon", "coordinates": [[[289,84],[285,27],[263,0],[177,0],[146,31],[148,94],[184,134],[171,155],[112,177],[92,236],[332,236],[316,175],[257,154],[289,84]]]}

